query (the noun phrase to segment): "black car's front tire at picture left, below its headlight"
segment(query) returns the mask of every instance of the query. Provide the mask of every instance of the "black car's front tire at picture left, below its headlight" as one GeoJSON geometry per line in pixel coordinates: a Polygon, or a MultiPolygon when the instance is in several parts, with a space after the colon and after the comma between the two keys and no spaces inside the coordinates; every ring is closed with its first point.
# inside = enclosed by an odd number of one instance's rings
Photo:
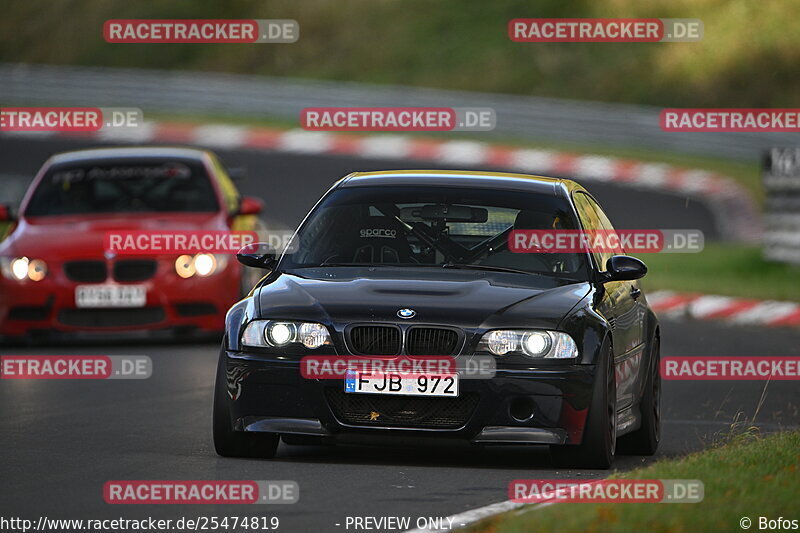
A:
{"type": "Polygon", "coordinates": [[[271,459],[278,450],[279,437],[274,433],[234,431],[228,408],[228,385],[225,373],[225,349],[217,364],[214,387],[213,434],[214,449],[223,457],[259,457],[271,459]]]}

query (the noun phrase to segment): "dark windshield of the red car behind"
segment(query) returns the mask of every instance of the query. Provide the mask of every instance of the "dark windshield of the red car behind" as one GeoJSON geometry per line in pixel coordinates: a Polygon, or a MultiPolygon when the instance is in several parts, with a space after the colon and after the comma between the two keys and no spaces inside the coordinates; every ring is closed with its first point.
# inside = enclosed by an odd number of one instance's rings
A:
{"type": "Polygon", "coordinates": [[[201,162],[136,159],[53,166],[34,191],[24,214],[205,213],[218,209],[201,162]]]}

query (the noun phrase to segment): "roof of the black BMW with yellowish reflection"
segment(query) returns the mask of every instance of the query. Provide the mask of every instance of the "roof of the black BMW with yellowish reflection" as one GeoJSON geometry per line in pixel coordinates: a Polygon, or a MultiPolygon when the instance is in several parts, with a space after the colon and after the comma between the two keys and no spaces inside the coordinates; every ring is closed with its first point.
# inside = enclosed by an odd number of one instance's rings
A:
{"type": "Polygon", "coordinates": [[[414,185],[471,187],[538,192],[559,196],[583,190],[575,181],[531,174],[473,170],[391,170],[354,172],[340,180],[339,187],[414,185]]]}

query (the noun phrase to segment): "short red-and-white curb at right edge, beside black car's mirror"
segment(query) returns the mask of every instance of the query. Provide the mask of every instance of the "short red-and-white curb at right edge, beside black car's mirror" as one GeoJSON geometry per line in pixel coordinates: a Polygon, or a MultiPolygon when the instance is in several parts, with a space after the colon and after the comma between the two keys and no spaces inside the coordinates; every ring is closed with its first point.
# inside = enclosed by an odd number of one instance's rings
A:
{"type": "Polygon", "coordinates": [[[800,304],[710,294],[655,291],[650,307],[664,316],[694,320],[724,320],[752,326],[800,326],[800,304]]]}

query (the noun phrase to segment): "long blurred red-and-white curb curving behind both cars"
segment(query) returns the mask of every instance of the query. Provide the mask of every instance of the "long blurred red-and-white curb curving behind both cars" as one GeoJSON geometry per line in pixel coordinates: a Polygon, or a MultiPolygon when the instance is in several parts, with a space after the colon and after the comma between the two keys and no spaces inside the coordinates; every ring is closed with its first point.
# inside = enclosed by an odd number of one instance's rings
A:
{"type": "MultiPolygon", "coordinates": [[[[19,132],[5,134],[56,135],[19,132]]],[[[408,159],[574,177],[581,181],[613,183],[695,198],[710,206],[723,238],[754,241],[761,236],[758,208],[748,192],[735,180],[704,170],[678,168],[661,163],[466,140],[447,141],[396,134],[350,135],[225,124],[146,122],[137,128],[106,129],[91,133],[64,132],[58,135],[114,143],[164,142],[220,149],[408,159]]]]}

